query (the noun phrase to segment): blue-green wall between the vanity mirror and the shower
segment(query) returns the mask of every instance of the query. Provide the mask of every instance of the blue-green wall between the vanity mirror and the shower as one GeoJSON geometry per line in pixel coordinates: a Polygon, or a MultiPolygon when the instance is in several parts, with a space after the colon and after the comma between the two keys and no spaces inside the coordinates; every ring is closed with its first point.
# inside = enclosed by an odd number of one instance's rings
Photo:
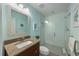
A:
{"type": "Polygon", "coordinates": [[[29,8],[30,13],[32,15],[31,20],[32,20],[32,27],[31,27],[31,33],[32,36],[39,36],[40,34],[40,27],[41,27],[41,20],[44,20],[45,16],[42,15],[39,11],[37,11],[35,8],[32,7],[30,4],[24,4],[25,7],[29,8]],[[36,23],[38,29],[33,30],[33,24],[36,23]]]}

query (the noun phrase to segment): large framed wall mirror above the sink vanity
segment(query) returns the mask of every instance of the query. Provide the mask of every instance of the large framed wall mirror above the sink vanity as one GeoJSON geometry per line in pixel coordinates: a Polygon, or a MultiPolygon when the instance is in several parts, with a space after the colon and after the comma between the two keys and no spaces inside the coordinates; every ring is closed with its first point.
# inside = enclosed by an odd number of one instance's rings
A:
{"type": "Polygon", "coordinates": [[[24,34],[29,35],[30,32],[30,16],[21,14],[13,9],[10,9],[8,19],[8,35],[24,34]]]}

